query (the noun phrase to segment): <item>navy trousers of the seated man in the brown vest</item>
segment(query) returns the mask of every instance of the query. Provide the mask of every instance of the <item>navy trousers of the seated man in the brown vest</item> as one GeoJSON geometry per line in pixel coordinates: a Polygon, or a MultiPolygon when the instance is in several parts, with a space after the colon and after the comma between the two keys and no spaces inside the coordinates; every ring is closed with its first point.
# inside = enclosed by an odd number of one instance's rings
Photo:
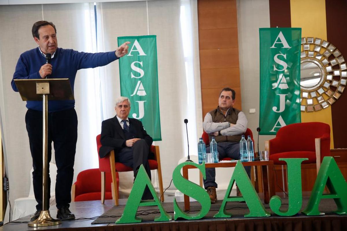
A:
{"type": "MultiPolygon", "coordinates": [[[[240,143],[239,142],[220,142],[217,143],[217,151],[219,152],[219,159],[226,157],[234,160],[240,159],[240,143]]],[[[206,147],[206,152],[210,152],[210,147],[206,147]]],[[[245,170],[249,178],[251,178],[251,166],[246,166],[245,170]]],[[[215,168],[206,168],[206,179],[204,179],[204,187],[218,187],[215,182],[215,168]]]]}

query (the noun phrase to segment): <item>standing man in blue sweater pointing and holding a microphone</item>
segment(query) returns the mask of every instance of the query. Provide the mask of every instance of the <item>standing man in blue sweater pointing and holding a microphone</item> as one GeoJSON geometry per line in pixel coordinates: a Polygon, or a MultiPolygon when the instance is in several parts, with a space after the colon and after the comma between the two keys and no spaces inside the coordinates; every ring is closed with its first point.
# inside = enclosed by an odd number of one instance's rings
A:
{"type": "MultiPolygon", "coordinates": [[[[130,42],[125,42],[117,47],[116,51],[105,53],[84,53],[58,48],[56,33],[56,27],[51,22],[34,23],[32,34],[39,47],[20,55],[13,79],[69,78],[71,88],[74,90],[77,70],[104,66],[128,53],[130,42]],[[51,64],[45,63],[48,53],[51,54],[51,64]]],[[[18,91],[14,80],[11,85],[14,91],[18,91]]],[[[28,110],[25,115],[25,123],[33,159],[33,186],[37,201],[36,212],[31,218],[31,221],[34,221],[42,210],[42,102],[27,101],[26,107],[28,110]]],[[[77,115],[74,107],[75,100],[48,102],[48,161],[51,160],[51,143],[53,141],[58,168],[57,218],[64,220],[75,219],[75,215],[69,210],[77,142],[77,115]]],[[[50,188],[49,177],[48,188],[50,188]]],[[[48,197],[50,197],[49,193],[48,197]]]]}

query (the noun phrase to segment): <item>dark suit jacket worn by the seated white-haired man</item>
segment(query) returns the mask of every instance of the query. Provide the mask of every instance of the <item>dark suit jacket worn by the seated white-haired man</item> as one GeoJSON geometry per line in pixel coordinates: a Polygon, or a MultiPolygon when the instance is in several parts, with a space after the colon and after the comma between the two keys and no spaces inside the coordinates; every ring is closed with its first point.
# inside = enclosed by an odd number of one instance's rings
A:
{"type": "MultiPolygon", "coordinates": [[[[135,128],[136,138],[144,139],[149,147],[151,147],[153,139],[147,132],[144,130],[141,121],[138,119],[128,118],[129,127],[135,128]]],[[[132,129],[133,130],[133,129],[132,129]]],[[[133,130],[134,131],[134,130],[133,130]]],[[[117,116],[106,119],[101,124],[101,148],[99,150],[100,158],[103,158],[109,153],[112,149],[115,150],[115,154],[120,152],[122,148],[125,148],[125,137],[123,129],[120,126],[117,116]]]]}

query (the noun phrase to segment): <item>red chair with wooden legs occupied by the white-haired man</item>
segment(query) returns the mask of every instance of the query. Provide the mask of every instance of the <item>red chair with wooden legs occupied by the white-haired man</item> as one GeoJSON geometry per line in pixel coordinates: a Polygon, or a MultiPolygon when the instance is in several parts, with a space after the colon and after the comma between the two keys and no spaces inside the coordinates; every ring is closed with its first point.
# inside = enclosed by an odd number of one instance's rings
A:
{"type": "MultiPolygon", "coordinates": [[[[127,172],[127,171],[133,171],[132,168],[125,166],[122,163],[115,161],[115,152],[112,150],[109,154],[107,154],[104,158],[100,158],[99,156],[99,149],[102,146],[101,145],[101,135],[96,136],[96,145],[98,148],[98,157],[99,157],[99,170],[101,172],[101,184],[105,181],[105,172],[111,172],[112,176],[112,182],[114,182],[113,179],[116,177],[117,172],[127,172]]],[[[150,165],[151,170],[157,170],[158,171],[158,181],[159,181],[159,190],[160,190],[160,200],[164,202],[164,194],[163,194],[163,180],[161,176],[161,166],[160,166],[160,153],[159,153],[159,146],[151,146],[151,151],[154,153],[154,160],[148,160],[148,163],[150,165]]],[[[116,186],[113,185],[115,192],[115,205],[118,205],[118,191],[115,190],[116,186]]],[[[118,183],[117,183],[118,187],[118,183]]],[[[101,195],[104,193],[104,187],[101,187],[101,195]]],[[[104,198],[101,197],[101,203],[104,203],[104,198]]]]}

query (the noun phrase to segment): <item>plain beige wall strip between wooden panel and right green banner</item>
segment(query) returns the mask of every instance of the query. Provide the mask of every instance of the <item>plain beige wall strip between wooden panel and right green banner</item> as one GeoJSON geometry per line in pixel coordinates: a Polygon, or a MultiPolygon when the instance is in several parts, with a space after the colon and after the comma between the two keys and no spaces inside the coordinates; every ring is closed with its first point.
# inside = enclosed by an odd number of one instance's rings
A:
{"type": "MultiPolygon", "coordinates": [[[[237,0],[238,46],[242,109],[248,119],[255,145],[259,126],[259,28],[270,27],[268,0],[237,0]],[[250,114],[249,109],[255,108],[250,114]]],[[[259,150],[264,150],[264,141],[274,136],[261,135],[259,150]]],[[[255,148],[257,151],[257,148],[255,148]]]]}

